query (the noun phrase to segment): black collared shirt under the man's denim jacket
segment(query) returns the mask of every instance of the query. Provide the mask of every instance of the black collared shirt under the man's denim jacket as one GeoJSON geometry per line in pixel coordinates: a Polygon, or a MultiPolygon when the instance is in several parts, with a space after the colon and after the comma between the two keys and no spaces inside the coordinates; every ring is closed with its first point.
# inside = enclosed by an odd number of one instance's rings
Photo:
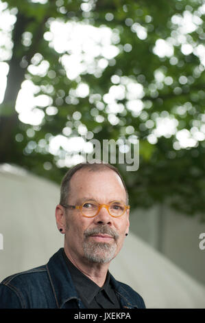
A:
{"type": "Polygon", "coordinates": [[[120,309],[119,300],[110,284],[110,273],[106,276],[103,287],[99,287],[93,280],[84,275],[71,263],[64,252],[63,256],[75,285],[75,289],[87,309],[120,309]]]}

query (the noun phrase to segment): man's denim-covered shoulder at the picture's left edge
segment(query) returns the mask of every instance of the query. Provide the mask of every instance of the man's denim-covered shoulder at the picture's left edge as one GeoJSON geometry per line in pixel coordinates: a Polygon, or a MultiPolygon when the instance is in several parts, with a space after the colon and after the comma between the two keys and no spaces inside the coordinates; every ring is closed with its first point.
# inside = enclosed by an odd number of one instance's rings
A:
{"type": "Polygon", "coordinates": [[[0,308],[25,308],[29,290],[38,290],[47,275],[46,266],[13,274],[0,283],[0,308]]]}

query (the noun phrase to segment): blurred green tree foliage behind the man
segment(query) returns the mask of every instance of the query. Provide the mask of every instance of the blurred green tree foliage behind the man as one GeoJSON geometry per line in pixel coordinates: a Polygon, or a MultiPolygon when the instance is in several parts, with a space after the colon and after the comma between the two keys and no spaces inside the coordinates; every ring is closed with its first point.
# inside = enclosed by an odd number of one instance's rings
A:
{"type": "MultiPolygon", "coordinates": [[[[178,120],[177,129],[190,131],[194,126],[202,126],[205,121],[205,74],[204,66],[195,52],[183,54],[182,43],[193,47],[203,46],[204,13],[199,8],[200,0],[49,0],[46,3],[33,3],[25,0],[2,1],[8,4],[10,10],[17,8],[16,23],[12,32],[14,43],[12,58],[8,60],[10,72],[5,99],[1,104],[0,114],[0,162],[19,164],[32,172],[60,183],[67,168],[57,166],[59,155],[52,155],[46,149],[50,135],[62,135],[62,129],[69,122],[72,133],[79,135],[77,125],[84,124],[88,131],[94,133],[95,139],[114,139],[123,136],[128,138],[127,126],[133,126],[134,135],[140,140],[140,164],[136,172],[126,172],[119,165],[130,193],[130,204],[133,207],[150,207],[154,203],[169,203],[176,210],[185,214],[201,214],[204,216],[205,199],[205,144],[198,141],[195,146],[173,148],[176,134],[160,136],[156,144],[151,144],[147,137],[156,128],[156,118],[172,116],[178,120]],[[173,16],[182,17],[189,12],[200,19],[191,32],[184,33],[181,43],[178,41],[180,30],[173,16]],[[100,27],[110,27],[119,41],[115,46],[119,54],[114,59],[108,59],[108,66],[100,77],[91,72],[84,72],[80,79],[70,80],[62,66],[60,58],[69,52],[56,52],[44,34],[49,31],[52,19],[60,21],[75,21],[100,27]],[[147,33],[138,36],[137,28],[147,33]],[[144,29],[143,29],[144,28],[144,29]],[[22,34],[32,33],[32,41],[28,46],[22,43],[22,34]],[[154,54],[158,40],[169,40],[173,43],[172,56],[154,54]],[[131,46],[130,46],[131,45],[131,46]],[[31,74],[27,67],[36,53],[41,60],[49,62],[49,71],[45,76],[31,74]],[[164,80],[156,80],[156,71],[164,74],[164,80]],[[53,73],[54,77],[51,78],[53,73]],[[144,109],[138,115],[127,109],[128,98],[120,98],[118,104],[123,104],[123,111],[115,113],[119,123],[113,125],[108,120],[104,95],[113,86],[112,76],[128,77],[133,82],[143,86],[144,96],[141,98],[144,109]],[[183,77],[183,78],[180,78],[183,77]],[[19,121],[15,112],[16,96],[21,89],[23,80],[32,80],[39,86],[38,96],[47,94],[47,87],[52,85],[49,96],[53,105],[58,107],[56,115],[47,115],[42,124],[31,126],[19,121]],[[76,102],[68,99],[70,89],[76,89],[79,82],[88,85],[90,93],[85,98],[77,98],[76,102]],[[99,94],[95,99],[94,94],[99,94]],[[67,98],[67,100],[66,100],[67,98]],[[99,110],[97,102],[104,103],[104,109],[99,110]],[[178,109],[181,107],[181,110],[178,109]],[[97,122],[91,109],[104,117],[103,122],[97,122]],[[9,111],[9,113],[8,113],[9,111]],[[80,111],[78,123],[73,113],[80,111]],[[151,126],[147,123],[152,120],[151,126]],[[32,137],[27,135],[28,129],[34,130],[32,137]],[[48,135],[49,134],[49,135],[48,135]],[[20,139],[18,139],[20,138],[20,139]],[[39,147],[40,140],[45,140],[45,148],[39,147]],[[35,148],[28,148],[29,142],[36,143],[35,148]],[[47,164],[45,164],[47,163],[47,164]],[[49,164],[48,164],[49,163],[49,164]],[[45,167],[49,165],[49,167],[45,167]]],[[[45,1],[44,1],[45,2],[45,1]]],[[[100,54],[96,60],[103,58],[100,54]]],[[[1,57],[0,57],[1,59],[1,57]]],[[[40,62],[39,62],[40,64],[40,62]]],[[[46,107],[40,107],[45,111],[46,107]]],[[[93,113],[95,114],[95,113],[93,113]]],[[[30,145],[31,146],[31,145],[30,145]]],[[[63,158],[67,152],[60,148],[63,158]]],[[[116,165],[115,165],[116,166],[116,165]]]]}

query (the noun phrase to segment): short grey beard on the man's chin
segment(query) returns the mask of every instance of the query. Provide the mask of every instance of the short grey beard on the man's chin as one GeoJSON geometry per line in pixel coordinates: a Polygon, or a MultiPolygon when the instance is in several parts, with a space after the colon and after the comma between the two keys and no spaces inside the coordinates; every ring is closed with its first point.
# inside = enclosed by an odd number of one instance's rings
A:
{"type": "Polygon", "coordinates": [[[116,243],[98,243],[86,240],[83,243],[84,256],[91,263],[109,263],[117,250],[116,243]]]}

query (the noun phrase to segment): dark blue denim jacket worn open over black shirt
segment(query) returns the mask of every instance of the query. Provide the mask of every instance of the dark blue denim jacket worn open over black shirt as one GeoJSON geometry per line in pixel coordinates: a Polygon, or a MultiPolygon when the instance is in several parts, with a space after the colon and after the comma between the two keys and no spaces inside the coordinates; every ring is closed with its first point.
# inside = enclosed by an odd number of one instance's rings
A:
{"type": "MultiPolygon", "coordinates": [[[[5,278],[0,284],[0,309],[84,309],[62,255],[53,254],[47,265],[5,278]]],[[[144,309],[143,298],[110,275],[121,308],[144,309]]]]}

